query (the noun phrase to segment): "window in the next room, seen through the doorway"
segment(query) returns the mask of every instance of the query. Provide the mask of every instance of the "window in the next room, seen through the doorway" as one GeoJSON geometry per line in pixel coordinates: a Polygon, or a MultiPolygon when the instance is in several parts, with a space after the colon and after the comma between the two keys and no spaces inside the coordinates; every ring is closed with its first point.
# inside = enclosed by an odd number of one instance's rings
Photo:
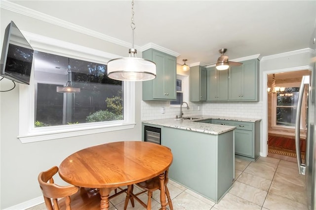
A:
{"type": "MultiPolygon", "coordinates": [[[[283,86],[283,85],[282,85],[283,86]]],[[[297,102],[299,94],[299,85],[290,87],[286,85],[283,92],[278,92],[273,95],[273,126],[275,127],[284,127],[284,128],[294,128],[296,121],[296,111],[297,111],[297,102]]],[[[304,93],[302,105],[306,107],[307,104],[307,94],[304,93]]],[[[306,118],[306,109],[301,111],[301,125],[300,128],[305,127],[304,120],[306,118]]]]}

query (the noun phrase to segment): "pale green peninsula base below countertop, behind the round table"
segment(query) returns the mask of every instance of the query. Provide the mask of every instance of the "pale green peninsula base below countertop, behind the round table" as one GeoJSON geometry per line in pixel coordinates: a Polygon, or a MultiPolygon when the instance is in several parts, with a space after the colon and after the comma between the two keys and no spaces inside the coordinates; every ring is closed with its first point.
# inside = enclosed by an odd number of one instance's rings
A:
{"type": "Polygon", "coordinates": [[[161,144],[169,147],[173,154],[170,179],[216,203],[231,188],[234,130],[211,135],[163,127],[161,144]]]}

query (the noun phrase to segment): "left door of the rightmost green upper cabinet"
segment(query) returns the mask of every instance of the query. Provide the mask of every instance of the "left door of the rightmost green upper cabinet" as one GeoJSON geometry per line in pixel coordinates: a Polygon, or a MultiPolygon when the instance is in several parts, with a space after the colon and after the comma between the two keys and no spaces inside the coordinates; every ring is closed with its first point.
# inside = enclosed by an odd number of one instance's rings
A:
{"type": "Polygon", "coordinates": [[[229,100],[241,99],[241,74],[242,66],[229,69],[229,100]]]}

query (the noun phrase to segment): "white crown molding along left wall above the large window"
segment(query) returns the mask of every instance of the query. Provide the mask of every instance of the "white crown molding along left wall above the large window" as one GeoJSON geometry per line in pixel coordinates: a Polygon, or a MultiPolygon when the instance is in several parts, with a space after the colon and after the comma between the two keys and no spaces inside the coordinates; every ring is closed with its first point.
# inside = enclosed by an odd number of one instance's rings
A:
{"type": "MultiPolygon", "coordinates": [[[[41,21],[44,21],[44,22],[47,22],[50,24],[54,24],[54,25],[63,27],[65,29],[76,31],[76,32],[79,32],[81,34],[85,34],[85,35],[89,35],[89,36],[99,38],[99,39],[102,39],[105,41],[109,41],[109,42],[112,42],[112,43],[115,43],[115,44],[118,44],[118,45],[121,45],[124,47],[130,48],[130,46],[131,46],[131,43],[129,43],[129,42],[122,41],[122,40],[114,38],[112,36],[104,35],[102,33],[78,26],[76,24],[69,23],[67,21],[52,17],[50,15],[44,14],[44,13],[36,11],[34,9],[27,8],[25,6],[21,6],[19,4],[16,4],[16,3],[13,3],[13,2],[10,2],[7,0],[1,0],[0,7],[3,9],[6,9],[6,10],[10,10],[12,12],[16,12],[16,13],[19,13],[19,14],[22,14],[22,15],[25,15],[25,16],[28,16],[31,18],[35,18],[35,19],[38,19],[38,20],[41,20],[41,21]]],[[[141,48],[141,47],[135,45],[135,48],[141,48]]]]}

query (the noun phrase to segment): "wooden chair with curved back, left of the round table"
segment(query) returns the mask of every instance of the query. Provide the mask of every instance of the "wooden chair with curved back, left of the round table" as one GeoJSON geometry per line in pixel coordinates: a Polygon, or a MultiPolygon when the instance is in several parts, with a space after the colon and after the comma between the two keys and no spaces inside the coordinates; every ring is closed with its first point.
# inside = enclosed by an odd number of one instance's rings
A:
{"type": "MultiPolygon", "coordinates": [[[[100,210],[101,196],[98,189],[74,185],[59,186],[54,183],[53,179],[57,172],[58,167],[54,166],[45,172],[41,172],[38,177],[47,210],[100,210]]],[[[116,189],[115,194],[110,196],[109,199],[126,190],[121,189],[117,193],[116,189]]],[[[133,200],[131,202],[134,203],[133,200]]]]}

